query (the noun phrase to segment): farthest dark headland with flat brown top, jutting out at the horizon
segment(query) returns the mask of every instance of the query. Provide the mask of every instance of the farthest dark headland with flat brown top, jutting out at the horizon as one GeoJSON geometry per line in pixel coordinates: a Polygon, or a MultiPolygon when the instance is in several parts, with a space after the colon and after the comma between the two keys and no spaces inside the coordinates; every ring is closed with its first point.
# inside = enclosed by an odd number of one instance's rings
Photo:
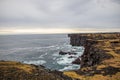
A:
{"type": "Polygon", "coordinates": [[[70,44],[72,46],[84,46],[87,40],[109,40],[120,39],[120,33],[81,33],[81,34],[68,34],[70,37],[70,44]]]}

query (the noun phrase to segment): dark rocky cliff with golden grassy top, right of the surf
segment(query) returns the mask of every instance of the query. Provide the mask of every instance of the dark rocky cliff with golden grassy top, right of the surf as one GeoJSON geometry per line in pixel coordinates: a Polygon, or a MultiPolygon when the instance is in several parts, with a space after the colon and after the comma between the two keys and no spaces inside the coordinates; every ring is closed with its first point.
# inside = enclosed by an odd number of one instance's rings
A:
{"type": "Polygon", "coordinates": [[[120,80],[120,33],[69,34],[70,44],[84,46],[80,70],[64,74],[87,80],[120,80]],[[98,78],[100,77],[100,78],[98,78]]]}

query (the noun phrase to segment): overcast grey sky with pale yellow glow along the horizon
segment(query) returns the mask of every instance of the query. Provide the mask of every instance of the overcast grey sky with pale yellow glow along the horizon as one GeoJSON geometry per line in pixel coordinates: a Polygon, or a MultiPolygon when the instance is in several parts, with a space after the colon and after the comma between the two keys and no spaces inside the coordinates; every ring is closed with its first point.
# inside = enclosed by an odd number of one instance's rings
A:
{"type": "Polygon", "coordinates": [[[120,0],[0,0],[0,34],[119,31],[120,0]]]}

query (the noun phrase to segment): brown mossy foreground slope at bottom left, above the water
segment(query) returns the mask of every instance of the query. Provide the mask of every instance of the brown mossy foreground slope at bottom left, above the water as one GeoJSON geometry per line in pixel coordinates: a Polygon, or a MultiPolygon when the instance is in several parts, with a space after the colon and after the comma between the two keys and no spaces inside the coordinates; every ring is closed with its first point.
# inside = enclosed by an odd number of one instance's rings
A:
{"type": "Polygon", "coordinates": [[[72,80],[62,72],[44,66],[15,61],[0,61],[0,80],[72,80]]]}

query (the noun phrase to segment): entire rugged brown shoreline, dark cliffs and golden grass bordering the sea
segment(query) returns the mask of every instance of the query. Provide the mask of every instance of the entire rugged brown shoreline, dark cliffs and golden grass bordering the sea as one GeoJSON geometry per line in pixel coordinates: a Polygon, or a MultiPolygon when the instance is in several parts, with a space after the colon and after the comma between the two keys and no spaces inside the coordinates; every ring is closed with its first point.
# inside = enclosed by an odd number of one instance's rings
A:
{"type": "Polygon", "coordinates": [[[85,51],[74,64],[79,70],[52,71],[44,66],[0,61],[1,80],[119,80],[120,33],[68,34],[72,46],[84,46],[85,51]]]}

